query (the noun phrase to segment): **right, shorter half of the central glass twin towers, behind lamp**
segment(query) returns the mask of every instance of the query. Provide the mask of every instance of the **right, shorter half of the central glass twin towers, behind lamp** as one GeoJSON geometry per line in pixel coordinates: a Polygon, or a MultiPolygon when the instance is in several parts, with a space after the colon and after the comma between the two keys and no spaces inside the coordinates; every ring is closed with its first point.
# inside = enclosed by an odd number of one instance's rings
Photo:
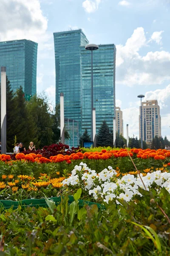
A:
{"type": "MultiPolygon", "coordinates": [[[[96,108],[96,133],[102,121],[113,130],[115,117],[115,61],[114,44],[99,45],[93,51],[94,108],[96,108]]],[[[91,51],[81,47],[82,64],[82,134],[85,128],[91,134],[91,51]]]]}

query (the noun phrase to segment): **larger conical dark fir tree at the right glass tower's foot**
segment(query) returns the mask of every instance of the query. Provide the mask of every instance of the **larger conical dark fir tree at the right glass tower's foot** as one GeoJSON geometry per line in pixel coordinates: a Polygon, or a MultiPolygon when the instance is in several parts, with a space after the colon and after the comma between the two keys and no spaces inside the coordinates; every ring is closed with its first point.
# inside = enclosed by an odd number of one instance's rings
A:
{"type": "Polygon", "coordinates": [[[101,127],[99,128],[96,144],[97,146],[113,147],[113,136],[106,121],[103,121],[101,127]]]}

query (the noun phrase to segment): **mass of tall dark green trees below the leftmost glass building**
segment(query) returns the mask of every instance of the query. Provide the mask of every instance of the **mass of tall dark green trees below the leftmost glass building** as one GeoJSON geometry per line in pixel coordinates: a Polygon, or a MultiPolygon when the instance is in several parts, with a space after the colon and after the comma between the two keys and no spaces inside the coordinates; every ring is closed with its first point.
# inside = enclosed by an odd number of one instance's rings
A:
{"type": "MultiPolygon", "coordinates": [[[[36,148],[59,142],[59,125],[59,106],[51,111],[45,93],[26,101],[23,88],[14,93],[6,79],[7,152],[13,151],[15,136],[17,142],[22,142],[27,149],[31,141],[36,148]]],[[[69,137],[67,132],[65,137],[69,137]]]]}

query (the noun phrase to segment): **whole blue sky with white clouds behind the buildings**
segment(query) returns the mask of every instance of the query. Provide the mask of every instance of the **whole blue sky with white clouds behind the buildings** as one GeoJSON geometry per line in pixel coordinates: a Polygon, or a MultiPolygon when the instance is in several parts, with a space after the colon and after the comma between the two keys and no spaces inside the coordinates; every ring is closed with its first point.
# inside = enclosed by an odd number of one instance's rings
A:
{"type": "MultiPolygon", "coordinates": [[[[0,0],[0,41],[38,43],[37,92],[55,100],[53,32],[82,28],[90,43],[116,45],[116,105],[139,137],[139,100],[157,99],[170,140],[170,0],[0,0]]],[[[126,136],[126,129],[124,128],[126,136]]]]}

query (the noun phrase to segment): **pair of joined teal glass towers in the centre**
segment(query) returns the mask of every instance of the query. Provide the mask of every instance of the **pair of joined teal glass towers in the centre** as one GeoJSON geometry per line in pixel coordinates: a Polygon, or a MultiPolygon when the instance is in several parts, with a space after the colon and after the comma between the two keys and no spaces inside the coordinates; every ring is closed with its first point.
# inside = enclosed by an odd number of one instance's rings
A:
{"type": "MultiPolygon", "coordinates": [[[[56,63],[56,104],[64,93],[65,128],[71,146],[79,144],[85,128],[91,134],[91,51],[81,29],[54,33],[56,63]]],[[[113,129],[115,116],[115,61],[114,44],[99,45],[93,54],[94,108],[96,131],[106,120],[113,129]]]]}

